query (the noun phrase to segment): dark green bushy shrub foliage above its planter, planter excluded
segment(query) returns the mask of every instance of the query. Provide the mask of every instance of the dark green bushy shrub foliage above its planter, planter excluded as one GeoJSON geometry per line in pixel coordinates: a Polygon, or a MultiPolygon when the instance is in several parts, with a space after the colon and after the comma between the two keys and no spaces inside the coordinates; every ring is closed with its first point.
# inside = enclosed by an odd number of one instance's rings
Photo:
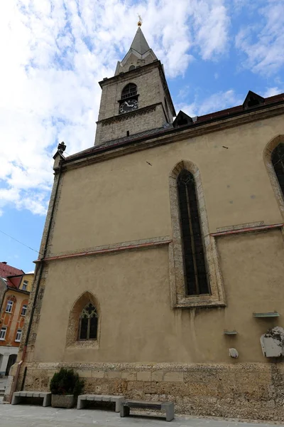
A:
{"type": "Polygon", "coordinates": [[[73,369],[61,368],[55,372],[50,381],[50,391],[52,394],[74,394],[79,396],[84,390],[84,380],[73,369]]]}

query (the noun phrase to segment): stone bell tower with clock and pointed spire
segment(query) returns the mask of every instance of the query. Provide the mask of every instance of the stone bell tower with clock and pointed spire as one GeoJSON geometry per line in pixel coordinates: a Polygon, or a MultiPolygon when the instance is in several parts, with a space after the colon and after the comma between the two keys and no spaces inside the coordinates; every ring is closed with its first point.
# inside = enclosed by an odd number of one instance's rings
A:
{"type": "Polygon", "coordinates": [[[141,21],[129,52],[117,63],[114,77],[104,78],[99,85],[102,99],[95,145],[132,139],[173,122],[175,108],[163,65],[148,46],[141,21]]]}

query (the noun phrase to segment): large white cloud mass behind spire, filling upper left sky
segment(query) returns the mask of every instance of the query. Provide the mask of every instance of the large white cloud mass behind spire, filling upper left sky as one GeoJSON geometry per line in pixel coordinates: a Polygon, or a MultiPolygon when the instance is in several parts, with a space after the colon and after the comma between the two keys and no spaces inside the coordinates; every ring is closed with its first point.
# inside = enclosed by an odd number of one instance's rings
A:
{"type": "Polygon", "coordinates": [[[224,0],[10,0],[0,4],[0,209],[45,214],[58,142],[92,146],[101,90],[129,49],[137,14],[170,77],[226,50],[224,0]]]}

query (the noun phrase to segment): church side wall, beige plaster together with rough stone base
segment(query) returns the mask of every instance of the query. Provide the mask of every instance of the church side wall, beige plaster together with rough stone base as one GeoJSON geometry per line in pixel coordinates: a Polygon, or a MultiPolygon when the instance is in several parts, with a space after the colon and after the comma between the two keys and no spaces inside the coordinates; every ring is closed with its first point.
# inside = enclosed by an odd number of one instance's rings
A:
{"type": "MultiPolygon", "coordinates": [[[[280,134],[283,118],[274,117],[64,172],[48,256],[168,241],[169,175],[181,160],[200,172],[209,233],[282,223],[263,159],[280,134]]],[[[167,244],[48,261],[23,364],[25,388],[46,391],[60,366],[74,367],[86,393],[174,401],[177,413],[283,421],[283,364],[263,357],[259,342],[268,328],[284,326],[282,231],[214,239],[225,307],[172,308],[167,244]],[[87,291],[97,301],[99,339],[77,348],[67,345],[68,320],[87,291]],[[280,317],[253,318],[274,310],[280,317]],[[231,347],[238,359],[229,357],[231,347]]],[[[22,379],[23,368],[18,384],[22,379]]]]}

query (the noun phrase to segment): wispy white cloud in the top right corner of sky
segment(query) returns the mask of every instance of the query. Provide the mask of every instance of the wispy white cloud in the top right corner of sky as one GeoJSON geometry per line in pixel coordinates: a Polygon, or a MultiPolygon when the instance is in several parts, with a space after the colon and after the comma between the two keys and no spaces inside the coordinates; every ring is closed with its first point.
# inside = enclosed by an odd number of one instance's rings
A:
{"type": "Polygon", "coordinates": [[[242,28],[236,36],[236,48],[245,53],[244,66],[253,73],[272,75],[284,65],[284,2],[258,0],[258,19],[242,28]]]}

